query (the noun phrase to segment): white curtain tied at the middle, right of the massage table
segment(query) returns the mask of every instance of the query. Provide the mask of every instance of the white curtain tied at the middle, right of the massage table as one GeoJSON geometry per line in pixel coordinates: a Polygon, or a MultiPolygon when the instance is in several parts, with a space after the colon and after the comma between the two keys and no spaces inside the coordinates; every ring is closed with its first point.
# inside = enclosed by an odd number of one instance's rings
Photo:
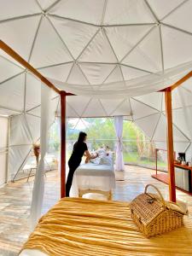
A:
{"type": "Polygon", "coordinates": [[[115,171],[124,171],[124,160],[123,160],[123,116],[114,117],[114,127],[117,136],[116,146],[116,160],[115,160],[115,171]]]}

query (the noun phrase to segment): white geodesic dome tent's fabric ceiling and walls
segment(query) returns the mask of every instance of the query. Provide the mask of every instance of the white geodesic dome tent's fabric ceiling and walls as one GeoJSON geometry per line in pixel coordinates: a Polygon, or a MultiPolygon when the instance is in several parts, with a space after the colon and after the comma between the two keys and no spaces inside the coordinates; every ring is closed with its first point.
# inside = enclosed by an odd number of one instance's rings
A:
{"type": "MultiPolygon", "coordinates": [[[[124,115],[157,145],[166,143],[164,92],[157,91],[192,69],[191,0],[1,0],[0,5],[1,48],[8,44],[57,92],[77,95],[67,96],[67,117],[124,115]]],[[[0,63],[0,113],[10,117],[13,177],[40,136],[41,82],[3,50],[0,63]]],[[[192,140],[191,124],[183,120],[191,93],[191,79],[172,93],[174,146],[181,151],[192,140]]],[[[53,117],[59,100],[53,92],[53,117]]]]}

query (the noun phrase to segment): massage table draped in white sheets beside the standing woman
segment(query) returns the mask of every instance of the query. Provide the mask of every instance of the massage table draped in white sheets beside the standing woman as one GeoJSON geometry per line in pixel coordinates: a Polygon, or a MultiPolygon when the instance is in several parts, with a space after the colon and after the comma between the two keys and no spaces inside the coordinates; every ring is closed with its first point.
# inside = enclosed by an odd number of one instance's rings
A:
{"type": "Polygon", "coordinates": [[[98,158],[88,164],[82,164],[75,171],[72,185],[72,190],[76,191],[75,196],[82,197],[86,193],[100,193],[110,200],[114,188],[113,154],[98,158]]]}

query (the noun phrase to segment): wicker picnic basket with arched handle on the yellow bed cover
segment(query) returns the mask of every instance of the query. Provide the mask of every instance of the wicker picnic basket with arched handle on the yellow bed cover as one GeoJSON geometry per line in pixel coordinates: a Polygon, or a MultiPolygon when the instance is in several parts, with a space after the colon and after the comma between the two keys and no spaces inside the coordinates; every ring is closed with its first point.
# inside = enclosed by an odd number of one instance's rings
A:
{"type": "Polygon", "coordinates": [[[148,184],[143,194],[131,201],[131,217],[144,236],[150,237],[175,230],[183,225],[187,212],[175,203],[166,202],[154,185],[148,184]],[[147,193],[148,186],[157,190],[158,195],[147,193]]]}

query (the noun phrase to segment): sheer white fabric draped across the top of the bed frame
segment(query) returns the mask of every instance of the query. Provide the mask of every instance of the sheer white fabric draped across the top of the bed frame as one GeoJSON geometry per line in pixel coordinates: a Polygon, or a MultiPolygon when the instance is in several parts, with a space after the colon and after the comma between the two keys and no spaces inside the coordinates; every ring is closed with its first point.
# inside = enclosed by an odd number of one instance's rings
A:
{"type": "MultiPolygon", "coordinates": [[[[108,84],[75,84],[61,83],[55,79],[51,80],[60,90],[70,91],[81,96],[92,96],[98,99],[122,98],[131,96],[143,96],[148,93],[163,90],[177,82],[186,73],[192,70],[192,61],[172,67],[158,73],[151,73],[130,80],[119,80],[108,84]]],[[[92,74],[95,77],[95,74],[92,74]]]]}

